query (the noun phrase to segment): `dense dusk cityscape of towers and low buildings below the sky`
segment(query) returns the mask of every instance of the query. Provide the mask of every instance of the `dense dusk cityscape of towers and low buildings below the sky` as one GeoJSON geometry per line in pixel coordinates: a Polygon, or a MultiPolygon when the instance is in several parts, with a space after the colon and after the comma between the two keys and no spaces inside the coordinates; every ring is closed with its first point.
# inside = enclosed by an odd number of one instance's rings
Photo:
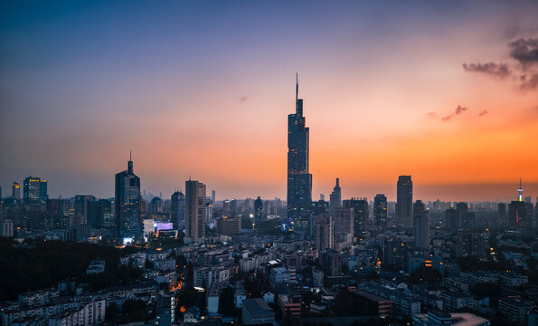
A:
{"type": "Polygon", "coordinates": [[[15,181],[2,325],[535,325],[538,197],[521,180],[510,203],[422,201],[408,175],[396,198],[343,198],[337,177],[313,199],[298,93],[286,200],[217,199],[194,179],[156,196],[132,158],[111,198],[15,181]]]}

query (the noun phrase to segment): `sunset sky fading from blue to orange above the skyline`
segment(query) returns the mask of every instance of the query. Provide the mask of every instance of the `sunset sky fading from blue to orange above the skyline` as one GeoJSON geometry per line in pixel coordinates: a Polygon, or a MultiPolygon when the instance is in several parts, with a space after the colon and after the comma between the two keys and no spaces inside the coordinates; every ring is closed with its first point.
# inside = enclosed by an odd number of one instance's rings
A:
{"type": "Polygon", "coordinates": [[[190,176],[286,197],[295,76],[313,198],[538,197],[535,1],[3,1],[0,186],[112,197],[190,176]]]}

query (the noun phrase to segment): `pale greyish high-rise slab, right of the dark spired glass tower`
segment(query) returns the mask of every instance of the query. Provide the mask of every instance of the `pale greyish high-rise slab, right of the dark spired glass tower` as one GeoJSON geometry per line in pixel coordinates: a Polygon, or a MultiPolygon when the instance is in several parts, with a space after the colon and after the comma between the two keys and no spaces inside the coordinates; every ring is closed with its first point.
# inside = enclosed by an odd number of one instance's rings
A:
{"type": "Polygon", "coordinates": [[[205,236],[205,185],[185,181],[185,237],[197,242],[205,236]]]}

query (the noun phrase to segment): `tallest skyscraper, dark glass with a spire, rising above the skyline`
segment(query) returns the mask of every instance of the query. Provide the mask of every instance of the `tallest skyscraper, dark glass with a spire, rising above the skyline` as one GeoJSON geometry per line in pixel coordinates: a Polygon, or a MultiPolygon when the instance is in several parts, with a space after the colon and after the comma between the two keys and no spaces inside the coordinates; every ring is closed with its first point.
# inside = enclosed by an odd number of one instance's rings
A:
{"type": "Polygon", "coordinates": [[[308,172],[309,129],[296,84],[295,113],[288,115],[288,230],[306,231],[312,206],[312,175],[308,172]]]}

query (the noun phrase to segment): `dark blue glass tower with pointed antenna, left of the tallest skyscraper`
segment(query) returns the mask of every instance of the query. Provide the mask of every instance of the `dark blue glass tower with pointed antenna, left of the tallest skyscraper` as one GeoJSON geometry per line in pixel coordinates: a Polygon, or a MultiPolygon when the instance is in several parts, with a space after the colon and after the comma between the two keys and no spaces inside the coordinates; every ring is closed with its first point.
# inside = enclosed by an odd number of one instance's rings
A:
{"type": "Polygon", "coordinates": [[[127,170],[116,174],[116,226],[118,236],[125,241],[137,239],[142,234],[140,210],[140,177],[133,171],[129,158],[127,170]]]}

